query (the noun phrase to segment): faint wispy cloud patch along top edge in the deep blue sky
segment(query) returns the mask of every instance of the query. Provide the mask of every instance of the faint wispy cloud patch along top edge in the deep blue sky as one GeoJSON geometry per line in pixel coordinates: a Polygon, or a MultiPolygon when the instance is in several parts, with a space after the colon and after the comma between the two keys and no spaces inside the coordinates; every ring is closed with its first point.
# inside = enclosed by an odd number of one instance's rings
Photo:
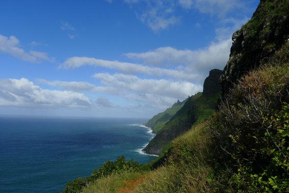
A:
{"type": "Polygon", "coordinates": [[[194,9],[202,14],[221,18],[225,18],[230,12],[247,8],[246,2],[241,0],[124,0],[124,2],[134,7],[137,17],[154,32],[179,24],[181,22],[177,11],[179,7],[186,11],[194,9]]]}

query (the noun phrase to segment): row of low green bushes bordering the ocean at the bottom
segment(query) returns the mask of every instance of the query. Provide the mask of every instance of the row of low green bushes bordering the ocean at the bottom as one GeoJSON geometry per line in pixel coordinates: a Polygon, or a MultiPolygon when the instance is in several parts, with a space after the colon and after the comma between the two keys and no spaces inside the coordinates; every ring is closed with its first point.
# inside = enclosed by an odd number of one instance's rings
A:
{"type": "Polygon", "coordinates": [[[71,182],[68,182],[62,193],[79,193],[91,182],[111,174],[123,172],[145,172],[149,170],[150,166],[148,164],[142,165],[136,161],[133,161],[133,159],[126,161],[124,156],[120,156],[115,162],[106,161],[99,167],[99,169],[95,169],[89,177],[77,178],[71,182]]]}

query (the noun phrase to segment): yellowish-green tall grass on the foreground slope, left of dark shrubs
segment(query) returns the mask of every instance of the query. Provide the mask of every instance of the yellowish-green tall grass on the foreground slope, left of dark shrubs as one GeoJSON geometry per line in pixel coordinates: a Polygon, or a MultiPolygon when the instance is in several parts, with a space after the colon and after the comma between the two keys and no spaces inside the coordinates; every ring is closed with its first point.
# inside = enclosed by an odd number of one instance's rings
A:
{"type": "Polygon", "coordinates": [[[214,171],[207,163],[211,142],[205,132],[207,121],[193,126],[176,138],[166,158],[166,165],[151,172],[136,193],[213,192],[214,171]]]}

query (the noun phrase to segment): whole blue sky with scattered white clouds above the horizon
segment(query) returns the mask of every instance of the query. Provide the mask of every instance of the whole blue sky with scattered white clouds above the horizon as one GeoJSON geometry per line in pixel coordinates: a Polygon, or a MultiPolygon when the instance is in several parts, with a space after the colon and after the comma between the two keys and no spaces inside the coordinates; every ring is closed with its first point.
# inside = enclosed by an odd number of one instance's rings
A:
{"type": "Polygon", "coordinates": [[[0,115],[151,118],[223,70],[259,0],[0,0],[0,115]]]}

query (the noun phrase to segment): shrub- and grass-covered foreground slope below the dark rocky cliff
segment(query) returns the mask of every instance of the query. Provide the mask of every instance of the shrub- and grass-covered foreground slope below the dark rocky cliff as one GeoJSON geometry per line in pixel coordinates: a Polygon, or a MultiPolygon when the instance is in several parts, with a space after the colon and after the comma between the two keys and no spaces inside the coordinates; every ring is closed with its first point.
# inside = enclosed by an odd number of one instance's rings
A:
{"type": "Polygon", "coordinates": [[[166,164],[135,192],[289,191],[289,108],[282,110],[283,102],[289,102],[289,45],[243,78],[214,118],[176,138],[166,164]]]}

